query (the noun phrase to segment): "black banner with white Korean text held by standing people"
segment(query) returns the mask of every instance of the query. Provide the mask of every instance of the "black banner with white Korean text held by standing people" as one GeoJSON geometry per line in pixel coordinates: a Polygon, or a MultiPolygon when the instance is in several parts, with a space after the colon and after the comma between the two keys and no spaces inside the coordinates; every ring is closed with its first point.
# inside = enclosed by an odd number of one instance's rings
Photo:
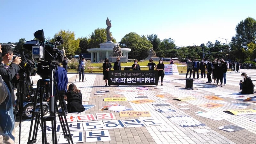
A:
{"type": "Polygon", "coordinates": [[[156,85],[157,70],[111,70],[108,72],[109,85],[156,85]]]}

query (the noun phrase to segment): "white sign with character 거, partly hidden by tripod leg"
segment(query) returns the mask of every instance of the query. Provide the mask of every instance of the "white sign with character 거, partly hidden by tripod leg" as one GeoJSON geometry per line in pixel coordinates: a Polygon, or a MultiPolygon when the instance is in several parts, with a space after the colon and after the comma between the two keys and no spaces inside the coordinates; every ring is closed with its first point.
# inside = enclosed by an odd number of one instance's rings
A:
{"type": "MultiPolygon", "coordinates": [[[[84,132],[70,132],[72,136],[73,143],[83,143],[84,142],[84,132]]],[[[70,141],[69,141],[70,142],[70,141]]],[[[61,132],[58,140],[58,144],[68,143],[68,140],[64,138],[64,134],[61,132]]]]}

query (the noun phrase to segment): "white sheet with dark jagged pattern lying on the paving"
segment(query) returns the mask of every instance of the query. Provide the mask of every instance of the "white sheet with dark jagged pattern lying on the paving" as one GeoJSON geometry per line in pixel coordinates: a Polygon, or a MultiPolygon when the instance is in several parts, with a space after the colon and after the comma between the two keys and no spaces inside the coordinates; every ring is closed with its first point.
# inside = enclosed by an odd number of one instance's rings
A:
{"type": "Polygon", "coordinates": [[[167,118],[170,118],[173,122],[182,127],[205,126],[205,124],[190,116],[167,116],[167,118]]]}

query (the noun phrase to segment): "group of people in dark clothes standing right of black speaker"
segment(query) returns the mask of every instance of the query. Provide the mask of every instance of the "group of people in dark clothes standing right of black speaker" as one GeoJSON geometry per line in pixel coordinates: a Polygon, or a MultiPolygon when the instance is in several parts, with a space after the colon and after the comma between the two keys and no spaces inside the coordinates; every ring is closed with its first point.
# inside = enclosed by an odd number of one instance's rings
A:
{"type": "Polygon", "coordinates": [[[186,78],[188,77],[188,72],[190,72],[189,78],[191,78],[192,70],[193,70],[193,78],[195,79],[195,73],[197,74],[197,79],[199,79],[198,71],[201,71],[201,78],[205,78],[205,71],[207,72],[207,79],[206,83],[212,83],[212,79],[214,81],[213,84],[216,82],[216,86],[221,86],[223,84],[226,85],[226,72],[228,71],[227,62],[223,59],[215,59],[212,62],[209,59],[202,59],[201,62],[198,62],[197,59],[191,61],[191,58],[188,59],[187,62],[187,74],[186,78]],[[212,77],[211,77],[212,75],[212,77]],[[220,84],[219,84],[220,81],[220,84]]]}

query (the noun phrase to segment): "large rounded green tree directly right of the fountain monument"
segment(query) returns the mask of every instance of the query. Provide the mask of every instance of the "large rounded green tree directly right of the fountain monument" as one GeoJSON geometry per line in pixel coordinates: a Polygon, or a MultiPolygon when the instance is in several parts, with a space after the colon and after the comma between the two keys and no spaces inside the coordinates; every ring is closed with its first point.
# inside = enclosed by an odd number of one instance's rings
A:
{"type": "Polygon", "coordinates": [[[130,59],[143,60],[148,57],[148,51],[149,48],[152,47],[152,44],[146,37],[141,37],[138,34],[131,32],[121,39],[120,46],[132,50],[129,52],[130,59]]]}

